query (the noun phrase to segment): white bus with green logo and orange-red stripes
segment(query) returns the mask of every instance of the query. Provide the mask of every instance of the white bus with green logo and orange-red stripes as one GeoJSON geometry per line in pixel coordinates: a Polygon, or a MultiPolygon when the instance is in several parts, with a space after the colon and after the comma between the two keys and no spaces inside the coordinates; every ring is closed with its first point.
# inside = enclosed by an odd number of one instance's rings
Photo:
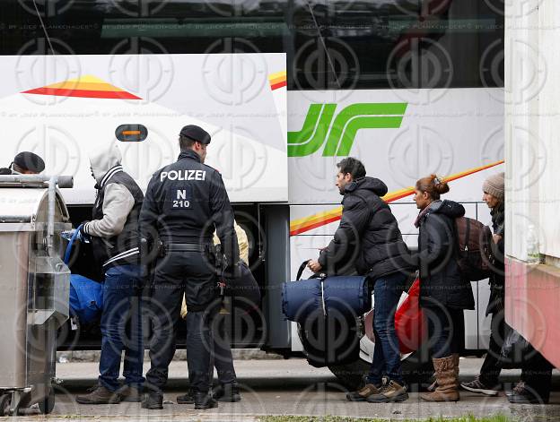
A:
{"type": "MultiPolygon", "coordinates": [[[[213,135],[208,164],[248,232],[263,293],[259,313],[232,309],[233,347],[305,354],[281,286],[337,228],[346,156],[389,186],[410,246],[410,186],[430,173],[451,177],[447,197],[469,217],[490,220],[481,185],[503,171],[502,2],[2,0],[0,13],[1,158],[36,151],[46,173],[73,175],[63,194],[74,224],[91,218],[87,151],[100,142],[121,142],[145,187],[176,159],[182,125],[213,135]],[[147,136],[127,138],[121,125],[147,136]]],[[[473,290],[465,349],[478,353],[488,289],[473,290]]],[[[372,359],[371,323],[360,358],[331,365],[345,383],[372,359]]],[[[60,348],[99,348],[99,334],[65,334],[60,348]]]]}

